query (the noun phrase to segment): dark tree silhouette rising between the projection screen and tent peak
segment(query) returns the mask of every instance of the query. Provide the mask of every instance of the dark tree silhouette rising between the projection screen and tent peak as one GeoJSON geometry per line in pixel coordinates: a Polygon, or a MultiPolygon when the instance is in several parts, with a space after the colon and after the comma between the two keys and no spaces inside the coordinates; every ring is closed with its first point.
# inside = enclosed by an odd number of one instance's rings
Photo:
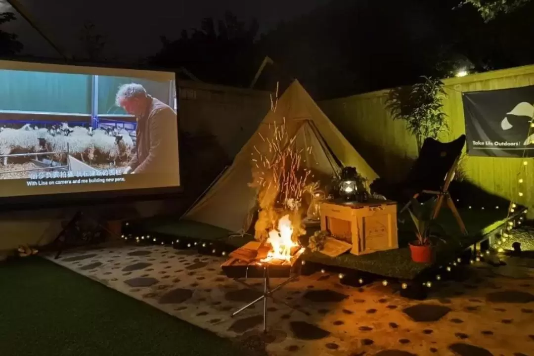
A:
{"type": "Polygon", "coordinates": [[[261,62],[254,46],[258,28],[256,20],[247,25],[232,13],[217,25],[205,18],[200,29],[183,30],[175,41],[161,36],[162,49],[149,61],[160,67],[184,67],[203,81],[245,86],[261,62]]]}

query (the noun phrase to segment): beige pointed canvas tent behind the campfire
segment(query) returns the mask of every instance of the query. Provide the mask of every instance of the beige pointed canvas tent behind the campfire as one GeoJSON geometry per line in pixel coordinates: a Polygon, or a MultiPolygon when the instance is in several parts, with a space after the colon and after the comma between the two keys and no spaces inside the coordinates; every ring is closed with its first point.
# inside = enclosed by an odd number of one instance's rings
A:
{"type": "Polygon", "coordinates": [[[262,139],[269,137],[269,128],[285,120],[288,137],[295,137],[297,148],[304,148],[302,159],[317,175],[332,177],[340,165],[355,167],[371,183],[378,178],[373,169],[343,137],[319,106],[294,81],[278,99],[276,110],[265,116],[254,135],[235,156],[232,165],[211,186],[208,192],[184,215],[194,220],[232,232],[247,231],[256,207],[256,188],[252,183],[251,157],[258,151],[268,151],[262,139]],[[261,134],[261,135],[260,135],[261,134]],[[311,147],[311,153],[305,149],[311,147]]]}

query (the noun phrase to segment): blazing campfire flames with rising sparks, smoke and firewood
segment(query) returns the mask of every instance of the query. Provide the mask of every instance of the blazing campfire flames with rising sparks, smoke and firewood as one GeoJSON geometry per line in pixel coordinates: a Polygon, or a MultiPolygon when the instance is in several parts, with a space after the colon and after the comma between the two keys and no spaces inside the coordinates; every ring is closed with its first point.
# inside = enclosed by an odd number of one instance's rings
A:
{"type": "MultiPolygon", "coordinates": [[[[278,93],[278,87],[277,87],[278,93]]],[[[277,102],[271,100],[271,110],[276,112],[277,102]]],[[[310,186],[313,174],[306,167],[302,153],[311,154],[311,147],[297,147],[297,126],[288,126],[285,117],[279,123],[273,121],[266,132],[258,132],[251,165],[253,181],[250,187],[257,189],[258,218],[254,225],[255,240],[233,251],[228,267],[284,266],[290,271],[304,252],[297,242],[305,233],[302,226],[303,196],[310,186]]],[[[226,267],[226,268],[225,268],[226,267]]],[[[250,274],[248,274],[250,276],[250,274]]]]}

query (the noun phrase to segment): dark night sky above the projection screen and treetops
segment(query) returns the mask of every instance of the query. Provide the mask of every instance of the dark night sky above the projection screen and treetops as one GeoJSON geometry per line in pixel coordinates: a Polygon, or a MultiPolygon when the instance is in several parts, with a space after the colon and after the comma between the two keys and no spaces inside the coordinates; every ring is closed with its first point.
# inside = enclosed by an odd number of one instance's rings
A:
{"type": "MultiPolygon", "coordinates": [[[[169,39],[182,29],[200,27],[205,17],[222,18],[229,10],[241,21],[257,18],[260,32],[306,14],[331,0],[150,0],[133,5],[132,0],[19,0],[52,40],[69,52],[80,53],[78,36],[83,22],[90,20],[98,31],[108,36],[106,56],[118,60],[137,60],[161,48],[160,35],[169,39]],[[53,7],[50,5],[53,3],[53,7]]],[[[139,2],[138,2],[139,3],[139,2]]],[[[0,0],[0,12],[13,11],[6,0],[0,0]]],[[[14,12],[14,11],[13,11],[14,12]]],[[[19,35],[23,53],[40,57],[58,54],[18,16],[5,30],[19,35]]]]}

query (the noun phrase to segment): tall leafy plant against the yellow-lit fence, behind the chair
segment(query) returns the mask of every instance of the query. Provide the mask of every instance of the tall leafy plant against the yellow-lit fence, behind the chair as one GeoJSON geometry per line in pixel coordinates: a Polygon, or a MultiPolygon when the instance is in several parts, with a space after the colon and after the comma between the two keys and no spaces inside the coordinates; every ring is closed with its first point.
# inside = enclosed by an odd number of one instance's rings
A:
{"type": "Polygon", "coordinates": [[[393,120],[406,123],[406,129],[415,136],[421,149],[425,138],[437,139],[441,132],[449,129],[442,110],[444,97],[446,93],[442,81],[422,76],[419,83],[392,89],[386,108],[393,120]]]}

